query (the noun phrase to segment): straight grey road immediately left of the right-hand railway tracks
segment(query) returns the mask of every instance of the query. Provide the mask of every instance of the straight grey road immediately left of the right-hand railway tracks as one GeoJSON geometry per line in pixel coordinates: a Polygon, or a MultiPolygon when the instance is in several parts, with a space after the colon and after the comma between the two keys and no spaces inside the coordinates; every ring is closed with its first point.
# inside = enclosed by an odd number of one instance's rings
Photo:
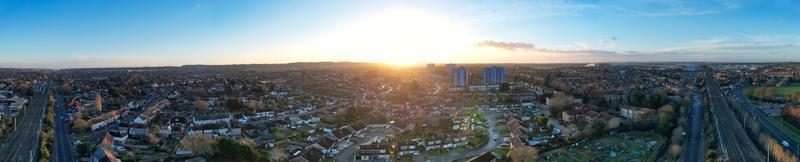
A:
{"type": "Polygon", "coordinates": [[[686,120],[687,131],[684,142],[683,154],[680,161],[702,162],[706,161],[705,136],[703,136],[703,99],[695,92],[692,95],[692,109],[689,110],[686,120]]]}

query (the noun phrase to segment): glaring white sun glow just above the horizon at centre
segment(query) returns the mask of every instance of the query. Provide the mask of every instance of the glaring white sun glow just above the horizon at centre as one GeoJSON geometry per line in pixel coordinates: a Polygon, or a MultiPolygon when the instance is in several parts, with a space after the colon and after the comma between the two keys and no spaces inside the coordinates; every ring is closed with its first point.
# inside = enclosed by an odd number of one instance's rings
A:
{"type": "Polygon", "coordinates": [[[474,44],[457,19],[414,8],[392,8],[343,22],[322,43],[337,57],[396,66],[448,62],[474,44]]]}

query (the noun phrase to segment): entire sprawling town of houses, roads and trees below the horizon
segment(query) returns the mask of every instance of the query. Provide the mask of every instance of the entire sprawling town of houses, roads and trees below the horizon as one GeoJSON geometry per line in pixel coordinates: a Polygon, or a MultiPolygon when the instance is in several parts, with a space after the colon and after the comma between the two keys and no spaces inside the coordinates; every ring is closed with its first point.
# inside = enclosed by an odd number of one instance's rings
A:
{"type": "Polygon", "coordinates": [[[798,65],[3,69],[0,157],[796,161],[798,65]]]}

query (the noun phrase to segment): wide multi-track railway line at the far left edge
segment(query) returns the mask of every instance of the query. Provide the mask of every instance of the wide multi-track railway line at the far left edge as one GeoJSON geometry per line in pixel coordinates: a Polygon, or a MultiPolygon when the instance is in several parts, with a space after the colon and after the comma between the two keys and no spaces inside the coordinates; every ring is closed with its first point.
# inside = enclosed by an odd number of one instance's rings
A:
{"type": "Polygon", "coordinates": [[[51,82],[48,79],[47,83],[35,85],[37,94],[33,96],[30,106],[25,108],[24,114],[17,117],[16,129],[0,142],[0,161],[38,161],[33,158],[38,151],[39,135],[49,96],[47,89],[51,82]]]}

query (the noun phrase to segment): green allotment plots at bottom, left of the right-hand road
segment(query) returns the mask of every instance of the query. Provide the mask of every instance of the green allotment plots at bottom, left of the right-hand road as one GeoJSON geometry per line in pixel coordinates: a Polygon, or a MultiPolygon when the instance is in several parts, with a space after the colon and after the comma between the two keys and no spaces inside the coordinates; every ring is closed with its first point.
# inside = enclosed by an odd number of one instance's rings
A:
{"type": "MultiPolygon", "coordinates": [[[[638,134],[638,133],[637,133],[638,134]]],[[[656,150],[664,144],[664,138],[655,134],[645,133],[639,135],[608,136],[589,142],[579,143],[577,146],[562,147],[545,154],[543,161],[655,161],[656,150]],[[656,141],[653,146],[648,146],[649,141],[656,141]]]]}

